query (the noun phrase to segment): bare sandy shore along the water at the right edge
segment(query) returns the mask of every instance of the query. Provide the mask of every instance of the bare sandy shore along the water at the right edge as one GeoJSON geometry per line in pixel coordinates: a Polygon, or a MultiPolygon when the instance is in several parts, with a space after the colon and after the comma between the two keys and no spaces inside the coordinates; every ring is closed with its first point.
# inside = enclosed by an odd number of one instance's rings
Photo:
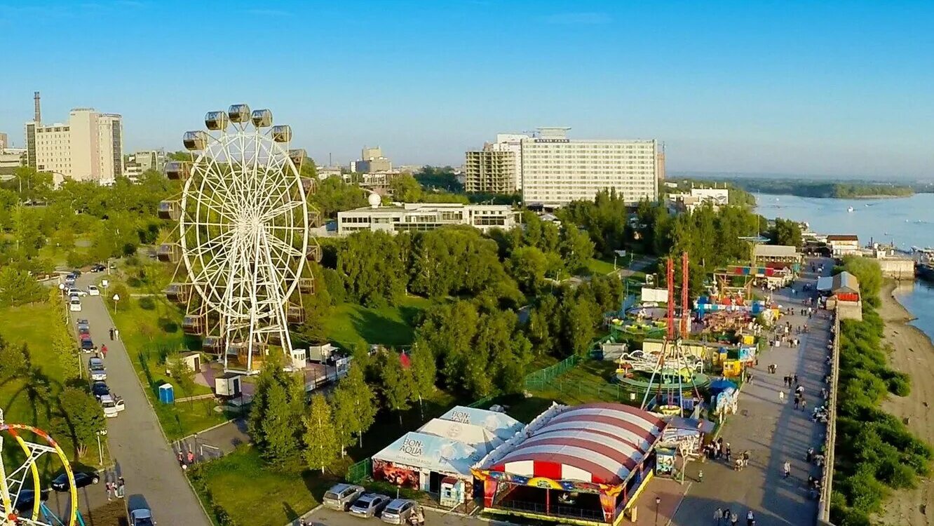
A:
{"type": "MultiPolygon", "coordinates": [[[[892,367],[912,377],[912,392],[905,397],[889,395],[885,411],[909,419],[908,427],[919,437],[934,443],[934,345],[920,329],[909,325],[914,317],[895,299],[896,283],[886,282],[880,293],[879,314],[885,322],[884,341],[894,350],[889,356],[892,367]]],[[[893,491],[880,517],[884,524],[934,525],[934,480],[922,479],[913,490],[893,491]],[[923,510],[932,510],[925,514],[923,510]]]]}

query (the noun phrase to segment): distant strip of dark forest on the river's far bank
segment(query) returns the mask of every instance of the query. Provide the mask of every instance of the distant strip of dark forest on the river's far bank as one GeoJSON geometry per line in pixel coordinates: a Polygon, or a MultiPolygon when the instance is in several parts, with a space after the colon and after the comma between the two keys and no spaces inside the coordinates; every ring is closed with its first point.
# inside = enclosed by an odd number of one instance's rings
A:
{"type": "MultiPolygon", "coordinates": [[[[707,180],[711,178],[707,177],[707,180]]],[[[698,179],[700,180],[700,179],[698,179]]],[[[908,197],[914,192],[934,192],[929,185],[894,185],[876,182],[817,182],[795,178],[722,178],[747,192],[777,193],[800,197],[859,198],[885,195],[908,197]]]]}

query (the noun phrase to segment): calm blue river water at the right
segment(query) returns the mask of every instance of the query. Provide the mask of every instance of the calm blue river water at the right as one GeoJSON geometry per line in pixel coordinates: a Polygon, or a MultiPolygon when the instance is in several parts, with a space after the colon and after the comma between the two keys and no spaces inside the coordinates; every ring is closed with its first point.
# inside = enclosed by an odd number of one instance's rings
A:
{"type": "MultiPolygon", "coordinates": [[[[891,199],[818,199],[795,195],[756,194],[757,212],[769,219],[807,221],[821,234],[856,234],[861,245],[870,239],[901,249],[934,247],[934,193],[891,199]],[[853,206],[850,212],[849,207],[853,206]]],[[[934,286],[915,281],[896,290],[912,323],[934,338],[934,286]]]]}

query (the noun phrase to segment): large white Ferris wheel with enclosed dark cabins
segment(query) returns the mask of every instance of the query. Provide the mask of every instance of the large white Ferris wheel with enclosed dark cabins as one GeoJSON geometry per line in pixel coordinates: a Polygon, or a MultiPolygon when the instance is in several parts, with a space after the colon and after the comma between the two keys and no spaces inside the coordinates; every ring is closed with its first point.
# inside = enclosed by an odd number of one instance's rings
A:
{"type": "Polygon", "coordinates": [[[205,127],[184,135],[191,162],[166,164],[184,186],[160,204],[178,238],[158,255],[185,269],[187,281],[166,290],[188,306],[185,332],[205,336],[226,370],[252,374],[273,348],[291,355],[289,324],[304,321],[301,294],[314,291],[306,262],[321,254],[309,235],[320,223],[307,202],[315,185],[301,176],[304,149],[289,149],[291,128],[273,125],[270,110],[210,111],[205,127]]]}

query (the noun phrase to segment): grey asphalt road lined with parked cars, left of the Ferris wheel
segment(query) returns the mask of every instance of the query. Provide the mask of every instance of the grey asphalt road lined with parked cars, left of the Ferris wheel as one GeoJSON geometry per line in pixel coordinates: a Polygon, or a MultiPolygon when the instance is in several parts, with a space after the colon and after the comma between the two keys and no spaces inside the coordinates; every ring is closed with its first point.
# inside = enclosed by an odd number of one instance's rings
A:
{"type": "MultiPolygon", "coordinates": [[[[78,288],[87,290],[88,285],[96,284],[103,277],[106,276],[84,274],[78,277],[78,288]]],[[[109,339],[108,330],[114,324],[103,298],[85,296],[81,305],[81,312],[71,313],[72,322],[88,320],[94,344],[98,347],[106,344],[107,385],[126,404],[119,417],[107,419],[107,441],[115,462],[114,472],[123,476],[127,494],[134,494],[134,502],[148,503],[160,523],[210,526],[172,449],[165,442],[126,348],[122,342],[109,339]]],[[[103,492],[103,481],[92,491],[103,492]]]]}

